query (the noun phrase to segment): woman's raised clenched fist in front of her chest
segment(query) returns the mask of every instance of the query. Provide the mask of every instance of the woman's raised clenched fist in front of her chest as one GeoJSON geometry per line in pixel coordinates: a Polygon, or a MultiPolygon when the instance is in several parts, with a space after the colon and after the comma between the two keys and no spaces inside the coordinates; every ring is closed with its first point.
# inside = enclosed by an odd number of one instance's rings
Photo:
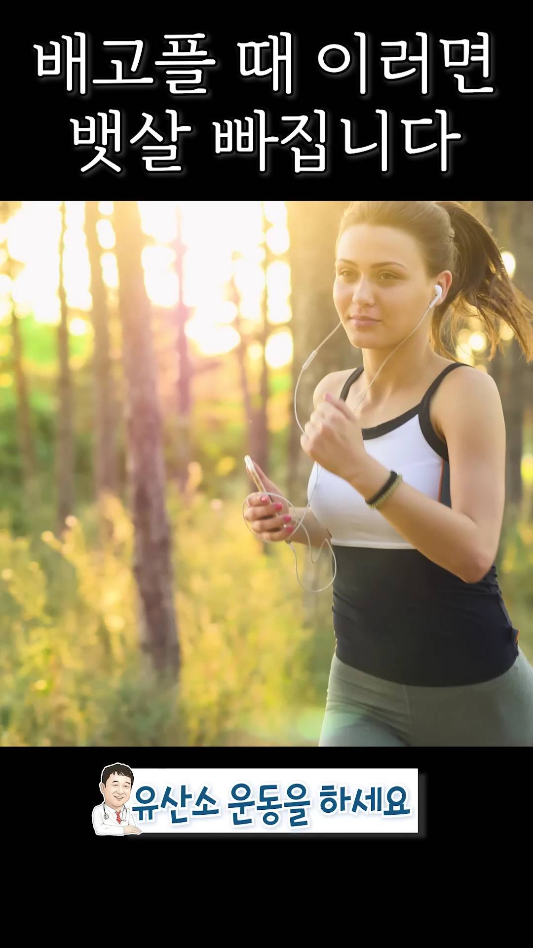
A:
{"type": "Polygon", "coordinates": [[[349,481],[368,454],[354,412],[342,398],[325,393],[305,425],[300,444],[317,464],[349,481]]]}

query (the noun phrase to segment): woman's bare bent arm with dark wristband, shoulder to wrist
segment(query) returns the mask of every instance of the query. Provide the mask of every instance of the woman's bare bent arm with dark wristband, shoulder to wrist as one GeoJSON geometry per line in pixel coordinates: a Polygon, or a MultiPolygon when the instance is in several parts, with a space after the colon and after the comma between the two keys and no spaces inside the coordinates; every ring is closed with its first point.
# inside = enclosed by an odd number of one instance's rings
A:
{"type": "MultiPolygon", "coordinates": [[[[450,459],[451,508],[402,482],[377,513],[433,563],[474,583],[487,574],[498,552],[505,505],[505,420],[490,375],[456,372],[449,378],[439,425],[450,459]]],[[[389,475],[388,467],[367,455],[349,483],[369,500],[389,475]]]]}

